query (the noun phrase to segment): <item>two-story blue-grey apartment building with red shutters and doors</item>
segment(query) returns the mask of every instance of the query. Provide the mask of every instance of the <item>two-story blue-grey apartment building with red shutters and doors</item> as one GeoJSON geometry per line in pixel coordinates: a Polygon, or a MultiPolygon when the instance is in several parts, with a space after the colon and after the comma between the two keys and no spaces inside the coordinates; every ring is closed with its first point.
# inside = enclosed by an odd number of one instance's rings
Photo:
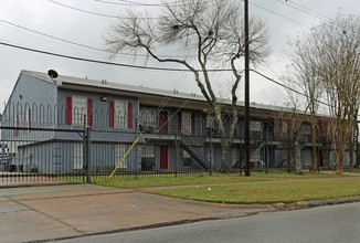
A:
{"type": "MultiPolygon", "coordinates": [[[[231,103],[222,103],[226,114],[231,103]]],[[[8,129],[1,139],[9,146],[12,163],[34,165],[38,171],[82,169],[86,127],[91,128],[94,171],[113,170],[136,138],[139,142],[121,170],[207,170],[211,165],[219,169],[221,138],[209,110],[202,95],[22,71],[2,114],[1,125],[8,129]]],[[[253,166],[283,163],[284,142],[276,138],[274,125],[280,110],[251,104],[253,166]]],[[[237,168],[243,160],[243,113],[239,102],[240,122],[231,151],[237,168]]],[[[310,130],[304,130],[308,136],[310,130]]],[[[305,140],[304,158],[311,155],[309,146],[310,140],[305,140]]]]}

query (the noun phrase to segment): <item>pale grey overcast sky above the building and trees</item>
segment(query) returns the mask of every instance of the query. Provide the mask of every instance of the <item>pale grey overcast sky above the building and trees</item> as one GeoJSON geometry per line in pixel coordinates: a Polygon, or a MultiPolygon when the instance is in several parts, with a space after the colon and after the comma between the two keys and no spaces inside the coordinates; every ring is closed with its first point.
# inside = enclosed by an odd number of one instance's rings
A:
{"type": "MultiPolygon", "coordinates": [[[[131,2],[161,3],[160,0],[130,0],[131,2]]],[[[173,0],[171,0],[173,1],[173,0]]],[[[242,0],[239,0],[242,1],[242,0]]],[[[126,10],[121,0],[1,0],[0,8],[0,42],[21,45],[24,47],[54,52],[65,55],[74,55],[85,59],[109,61],[108,54],[70,44],[53,38],[105,49],[103,36],[106,29],[115,21],[112,15],[118,15],[126,10]],[[65,4],[65,6],[61,6],[65,4]],[[71,7],[71,8],[68,8],[71,7]],[[73,9],[72,9],[73,8],[73,9]],[[74,8],[78,9],[75,10],[74,8]],[[91,14],[88,12],[104,15],[91,14]],[[105,17],[107,15],[107,17],[105,17]],[[27,30],[28,29],[28,30],[27,30]],[[31,30],[31,31],[29,31],[31,30]],[[40,32],[42,34],[36,34],[40,32]]],[[[128,1],[129,2],[129,1],[128,1]]],[[[133,9],[148,10],[156,17],[159,7],[138,7],[133,9]]],[[[288,70],[288,54],[290,52],[287,42],[296,35],[309,31],[321,21],[331,21],[341,9],[345,14],[360,14],[359,0],[250,0],[250,12],[264,18],[269,28],[269,45],[272,54],[267,64],[258,67],[258,71],[278,81],[288,70]]],[[[172,53],[177,54],[177,53],[172,53]]],[[[181,53],[179,53],[181,54],[181,53]]],[[[47,56],[0,45],[0,112],[8,101],[21,70],[47,72],[56,70],[62,75],[88,77],[94,80],[107,80],[108,82],[142,85],[148,87],[161,87],[163,89],[178,89],[188,93],[200,94],[190,73],[145,71],[120,66],[109,66],[78,62],[67,59],[47,56]]],[[[155,61],[145,62],[144,59],[134,61],[128,56],[119,55],[114,62],[136,65],[163,66],[155,61]]],[[[166,65],[169,66],[169,65],[166,65]]],[[[171,65],[171,67],[179,67],[171,65]]],[[[219,74],[219,94],[224,86],[219,74]]],[[[218,89],[218,88],[216,88],[218,89]]],[[[241,86],[243,89],[243,84],[241,86]]],[[[283,105],[285,93],[283,88],[272,82],[251,73],[251,102],[283,105]]]]}

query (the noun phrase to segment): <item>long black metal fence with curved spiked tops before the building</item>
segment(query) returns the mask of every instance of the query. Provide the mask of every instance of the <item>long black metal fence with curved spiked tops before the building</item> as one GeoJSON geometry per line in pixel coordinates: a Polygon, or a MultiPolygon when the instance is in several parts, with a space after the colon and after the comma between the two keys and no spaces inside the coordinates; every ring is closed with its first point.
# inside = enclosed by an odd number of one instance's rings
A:
{"type": "MultiPolygon", "coordinates": [[[[68,118],[64,107],[12,104],[0,126],[0,184],[178,177],[220,168],[220,131],[211,117],[200,112],[149,110],[140,108],[131,116],[94,110],[86,117],[85,109],[74,108],[68,118]]],[[[240,122],[230,151],[234,170],[244,168],[243,129],[240,122]]],[[[285,154],[294,149],[293,138],[279,136],[278,130],[274,120],[251,123],[252,169],[290,169],[285,154]]],[[[309,129],[299,134],[307,150],[309,135],[309,129]]],[[[329,141],[321,142],[317,140],[318,149],[329,149],[329,141]]]]}

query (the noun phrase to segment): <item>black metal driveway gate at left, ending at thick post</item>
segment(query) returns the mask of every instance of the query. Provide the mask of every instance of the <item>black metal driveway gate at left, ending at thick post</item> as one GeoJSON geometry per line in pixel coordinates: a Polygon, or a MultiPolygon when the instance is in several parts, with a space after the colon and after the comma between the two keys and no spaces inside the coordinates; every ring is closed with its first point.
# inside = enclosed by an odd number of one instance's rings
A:
{"type": "Polygon", "coordinates": [[[86,181],[86,130],[0,126],[0,187],[86,181]]]}

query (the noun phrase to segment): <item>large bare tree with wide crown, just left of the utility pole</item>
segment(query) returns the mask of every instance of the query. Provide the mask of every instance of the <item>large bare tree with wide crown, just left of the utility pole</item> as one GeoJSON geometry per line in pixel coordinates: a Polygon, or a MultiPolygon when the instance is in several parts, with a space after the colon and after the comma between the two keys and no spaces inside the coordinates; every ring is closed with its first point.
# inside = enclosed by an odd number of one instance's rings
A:
{"type": "MultiPolygon", "coordinates": [[[[208,101],[222,138],[223,172],[230,171],[230,148],[237,124],[236,91],[241,81],[240,59],[244,55],[242,1],[237,0],[177,0],[167,2],[160,17],[129,11],[112,25],[105,38],[113,55],[120,51],[145,50],[149,56],[161,63],[178,63],[193,73],[202,95],[208,101]],[[176,50],[194,57],[162,57],[162,50],[176,50]],[[232,70],[234,81],[231,88],[232,122],[226,134],[221,104],[213,91],[209,67],[226,66],[232,70]]],[[[258,63],[268,54],[267,28],[261,19],[250,21],[250,56],[258,63]]]]}

